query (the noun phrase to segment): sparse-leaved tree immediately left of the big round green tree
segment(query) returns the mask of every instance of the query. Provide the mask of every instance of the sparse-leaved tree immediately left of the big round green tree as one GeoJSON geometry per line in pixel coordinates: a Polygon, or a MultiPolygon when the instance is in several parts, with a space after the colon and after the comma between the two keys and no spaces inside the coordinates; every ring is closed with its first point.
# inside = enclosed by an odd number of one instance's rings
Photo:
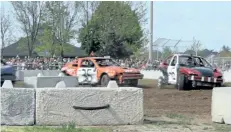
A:
{"type": "Polygon", "coordinates": [[[37,50],[48,49],[51,55],[56,53],[63,56],[64,51],[71,50],[65,45],[71,39],[75,39],[77,33],[76,24],[79,22],[77,16],[80,2],[47,1],[45,7],[44,25],[46,26],[42,29],[44,34],[40,36],[44,45],[38,46],[37,50]]]}

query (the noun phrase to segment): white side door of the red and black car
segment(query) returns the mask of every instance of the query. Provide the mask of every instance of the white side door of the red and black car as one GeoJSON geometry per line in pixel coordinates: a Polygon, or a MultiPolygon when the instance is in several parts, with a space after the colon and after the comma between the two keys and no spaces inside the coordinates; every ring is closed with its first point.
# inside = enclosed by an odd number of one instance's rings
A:
{"type": "Polygon", "coordinates": [[[176,84],[177,81],[177,56],[174,56],[168,66],[168,82],[176,84]]]}

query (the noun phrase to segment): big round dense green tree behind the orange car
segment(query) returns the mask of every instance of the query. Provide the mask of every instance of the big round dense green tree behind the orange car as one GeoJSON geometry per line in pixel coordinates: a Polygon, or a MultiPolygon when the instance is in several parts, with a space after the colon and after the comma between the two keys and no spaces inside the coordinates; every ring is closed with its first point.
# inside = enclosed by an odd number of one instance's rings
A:
{"type": "Polygon", "coordinates": [[[142,46],[139,18],[126,2],[100,2],[79,33],[81,47],[90,53],[123,58],[142,46]]]}

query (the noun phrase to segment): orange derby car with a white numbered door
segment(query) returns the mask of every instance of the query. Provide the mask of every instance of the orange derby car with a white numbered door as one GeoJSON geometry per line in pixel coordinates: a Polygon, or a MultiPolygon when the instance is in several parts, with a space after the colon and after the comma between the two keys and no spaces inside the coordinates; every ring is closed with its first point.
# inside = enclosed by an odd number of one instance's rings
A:
{"type": "Polygon", "coordinates": [[[137,86],[143,74],[134,68],[123,68],[110,58],[82,57],[63,66],[61,71],[69,76],[77,76],[79,84],[100,84],[107,86],[110,80],[119,85],[137,86]]]}

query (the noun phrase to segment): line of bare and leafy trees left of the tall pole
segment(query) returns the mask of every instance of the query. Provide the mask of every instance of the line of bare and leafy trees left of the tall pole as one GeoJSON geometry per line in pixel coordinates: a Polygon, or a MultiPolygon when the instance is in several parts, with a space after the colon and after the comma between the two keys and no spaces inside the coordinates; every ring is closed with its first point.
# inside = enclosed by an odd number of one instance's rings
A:
{"type": "MultiPolygon", "coordinates": [[[[96,55],[123,58],[138,51],[146,38],[141,26],[146,22],[144,2],[13,1],[11,4],[20,23],[17,29],[24,34],[20,47],[28,50],[29,56],[34,52],[63,56],[64,51],[71,50],[66,44],[75,41],[87,54],[93,51],[96,55]]],[[[4,37],[6,31],[2,34],[4,37]]],[[[2,41],[4,46],[5,39],[2,41]]]]}

